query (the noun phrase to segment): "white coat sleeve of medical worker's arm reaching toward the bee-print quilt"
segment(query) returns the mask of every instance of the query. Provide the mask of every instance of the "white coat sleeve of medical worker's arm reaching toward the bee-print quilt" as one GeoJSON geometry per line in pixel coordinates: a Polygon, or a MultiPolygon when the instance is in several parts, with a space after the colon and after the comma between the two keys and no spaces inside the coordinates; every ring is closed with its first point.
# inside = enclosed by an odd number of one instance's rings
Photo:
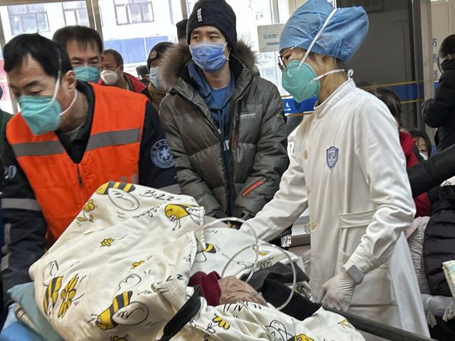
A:
{"type": "Polygon", "coordinates": [[[290,158],[288,170],[281,177],[279,190],[254,218],[241,225],[240,231],[253,234],[251,230],[254,230],[258,238],[272,240],[294,224],[307,209],[308,196],[303,168],[300,164],[302,154],[297,147],[298,134],[301,134],[300,129],[296,135],[295,151],[290,158]]]}

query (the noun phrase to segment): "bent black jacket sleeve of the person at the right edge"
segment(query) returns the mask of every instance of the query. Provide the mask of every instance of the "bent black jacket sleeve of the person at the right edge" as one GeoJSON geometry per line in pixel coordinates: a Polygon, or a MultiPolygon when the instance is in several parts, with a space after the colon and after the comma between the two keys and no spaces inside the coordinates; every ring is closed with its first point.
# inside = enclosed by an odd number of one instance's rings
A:
{"type": "Polygon", "coordinates": [[[434,99],[422,104],[423,118],[431,128],[439,128],[447,123],[455,106],[455,71],[442,73],[434,99]]]}

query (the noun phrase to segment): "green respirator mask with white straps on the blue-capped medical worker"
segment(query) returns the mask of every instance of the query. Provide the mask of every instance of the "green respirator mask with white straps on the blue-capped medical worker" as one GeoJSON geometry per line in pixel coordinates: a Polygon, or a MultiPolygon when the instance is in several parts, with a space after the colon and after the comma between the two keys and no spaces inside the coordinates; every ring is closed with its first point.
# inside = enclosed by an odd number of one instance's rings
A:
{"type": "MultiPolygon", "coordinates": [[[[336,70],[331,70],[327,73],[324,73],[323,75],[318,76],[316,75],[314,68],[305,63],[309,52],[311,52],[314,44],[318,40],[319,36],[321,36],[323,30],[330,22],[330,19],[333,17],[336,11],[337,8],[332,10],[332,13],[330,13],[330,15],[327,17],[327,20],[325,20],[321,29],[318,31],[313,41],[309,45],[309,48],[307,52],[305,52],[302,60],[293,60],[289,61],[288,64],[286,64],[286,71],[283,72],[283,78],[281,80],[282,85],[283,88],[286,89],[286,91],[289,92],[289,94],[293,96],[297,102],[302,102],[305,99],[311,99],[314,96],[318,96],[319,91],[321,90],[321,82],[319,81],[321,78],[332,73],[346,71],[344,68],[338,68],[336,70]]],[[[352,75],[351,72],[350,75],[352,75]]]]}

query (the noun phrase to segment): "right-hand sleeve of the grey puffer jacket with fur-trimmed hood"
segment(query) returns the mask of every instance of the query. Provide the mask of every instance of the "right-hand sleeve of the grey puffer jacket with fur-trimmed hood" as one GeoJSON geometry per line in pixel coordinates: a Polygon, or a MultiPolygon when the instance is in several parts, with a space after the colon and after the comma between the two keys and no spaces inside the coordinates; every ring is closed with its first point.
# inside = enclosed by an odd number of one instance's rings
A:
{"type": "Polygon", "coordinates": [[[251,174],[235,200],[236,217],[253,217],[259,212],[278,190],[289,164],[283,101],[274,86],[265,108],[251,174]]]}

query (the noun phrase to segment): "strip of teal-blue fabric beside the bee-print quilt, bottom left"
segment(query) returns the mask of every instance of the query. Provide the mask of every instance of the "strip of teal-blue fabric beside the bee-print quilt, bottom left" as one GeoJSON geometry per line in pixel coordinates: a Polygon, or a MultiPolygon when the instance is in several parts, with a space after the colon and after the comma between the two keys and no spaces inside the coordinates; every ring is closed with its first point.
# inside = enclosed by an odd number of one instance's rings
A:
{"type": "Polygon", "coordinates": [[[33,282],[13,286],[13,288],[8,290],[8,293],[15,302],[18,302],[22,306],[31,323],[36,327],[36,331],[44,340],[63,341],[60,335],[49,324],[48,319],[38,309],[33,282]]]}

